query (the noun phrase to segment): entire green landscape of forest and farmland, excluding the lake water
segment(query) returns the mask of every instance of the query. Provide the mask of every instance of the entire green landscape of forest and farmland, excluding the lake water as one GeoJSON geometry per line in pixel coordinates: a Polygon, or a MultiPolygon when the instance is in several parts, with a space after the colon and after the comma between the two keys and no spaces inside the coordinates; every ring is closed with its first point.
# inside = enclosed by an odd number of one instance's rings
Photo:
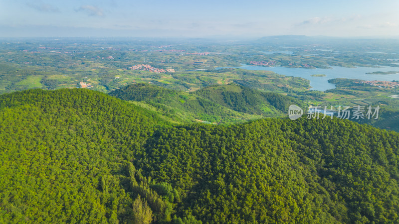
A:
{"type": "Polygon", "coordinates": [[[0,223],[399,223],[399,134],[368,125],[399,131],[398,88],[220,68],[398,67],[397,40],[210,43],[2,40],[0,223]]]}

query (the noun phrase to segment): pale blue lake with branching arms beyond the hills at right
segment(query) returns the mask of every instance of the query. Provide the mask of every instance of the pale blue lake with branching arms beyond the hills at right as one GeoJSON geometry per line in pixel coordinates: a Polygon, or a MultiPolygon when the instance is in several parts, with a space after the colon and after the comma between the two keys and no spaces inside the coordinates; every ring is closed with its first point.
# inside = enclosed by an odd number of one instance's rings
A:
{"type": "Polygon", "coordinates": [[[347,78],[347,79],[361,79],[361,80],[381,80],[393,81],[399,80],[399,73],[391,75],[371,75],[368,72],[389,72],[399,71],[399,67],[356,67],[344,68],[338,66],[330,66],[332,69],[305,69],[305,68],[285,68],[285,67],[263,67],[243,65],[240,67],[221,67],[222,68],[240,68],[256,71],[272,71],[280,75],[301,77],[310,81],[311,90],[326,91],[334,89],[335,85],[328,82],[330,79],[347,78]],[[312,77],[311,75],[324,74],[325,77],[312,77]]]}

